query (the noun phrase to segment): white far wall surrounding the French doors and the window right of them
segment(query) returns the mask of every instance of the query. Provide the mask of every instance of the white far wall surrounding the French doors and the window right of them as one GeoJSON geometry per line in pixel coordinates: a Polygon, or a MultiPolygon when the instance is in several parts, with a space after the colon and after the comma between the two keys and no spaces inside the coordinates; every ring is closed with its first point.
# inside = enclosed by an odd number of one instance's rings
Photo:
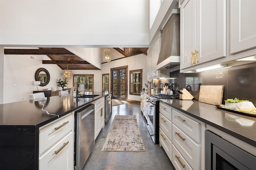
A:
{"type": "MultiPolygon", "coordinates": [[[[121,55],[121,54],[120,54],[121,55]]],[[[128,65],[128,100],[135,100],[140,101],[140,96],[136,95],[130,95],[129,94],[129,80],[130,80],[130,70],[138,70],[142,69],[142,86],[147,82],[147,67],[146,67],[146,55],[140,54],[135,55],[132,57],[127,57],[124,59],[116,60],[116,61],[110,61],[109,63],[102,64],[102,74],[109,73],[110,74],[110,68],[116,68],[120,66],[127,66],[128,65]]]]}

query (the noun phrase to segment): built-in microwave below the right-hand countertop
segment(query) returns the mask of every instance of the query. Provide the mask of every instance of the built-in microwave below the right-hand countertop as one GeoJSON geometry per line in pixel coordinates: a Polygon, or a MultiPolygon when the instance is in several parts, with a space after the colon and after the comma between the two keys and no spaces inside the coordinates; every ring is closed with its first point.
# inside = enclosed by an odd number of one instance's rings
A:
{"type": "Polygon", "coordinates": [[[205,131],[206,170],[252,170],[256,157],[229,143],[210,130],[205,131]]]}

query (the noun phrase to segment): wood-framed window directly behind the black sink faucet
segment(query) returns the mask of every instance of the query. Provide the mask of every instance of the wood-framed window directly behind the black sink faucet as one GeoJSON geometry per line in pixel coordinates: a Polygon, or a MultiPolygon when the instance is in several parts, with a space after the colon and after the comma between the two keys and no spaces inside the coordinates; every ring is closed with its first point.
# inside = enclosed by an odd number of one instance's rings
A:
{"type": "Polygon", "coordinates": [[[93,88],[94,74],[74,74],[73,84],[75,89],[77,88],[76,82],[79,76],[82,76],[82,77],[80,77],[78,80],[78,86],[80,86],[80,84],[84,84],[84,92],[94,91],[94,88],[93,88]]]}

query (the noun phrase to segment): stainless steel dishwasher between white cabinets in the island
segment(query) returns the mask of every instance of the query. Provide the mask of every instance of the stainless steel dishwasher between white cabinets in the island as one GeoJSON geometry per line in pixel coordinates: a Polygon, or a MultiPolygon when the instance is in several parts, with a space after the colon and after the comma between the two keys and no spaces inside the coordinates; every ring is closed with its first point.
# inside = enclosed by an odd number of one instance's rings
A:
{"type": "Polygon", "coordinates": [[[89,104],[75,114],[74,168],[82,170],[94,147],[94,104],[89,104]]]}

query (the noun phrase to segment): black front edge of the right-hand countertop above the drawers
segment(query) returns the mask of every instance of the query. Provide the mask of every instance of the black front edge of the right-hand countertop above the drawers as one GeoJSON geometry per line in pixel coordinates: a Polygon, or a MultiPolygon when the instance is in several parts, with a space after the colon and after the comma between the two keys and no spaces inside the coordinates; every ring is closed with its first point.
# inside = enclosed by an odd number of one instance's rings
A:
{"type": "MultiPolygon", "coordinates": [[[[173,100],[178,100],[178,99],[173,99],[173,100]]],[[[206,120],[206,119],[203,119],[202,117],[199,117],[199,116],[197,116],[197,115],[195,115],[195,114],[193,114],[193,113],[190,113],[190,112],[188,112],[188,111],[185,111],[185,110],[183,110],[183,109],[181,109],[181,108],[179,108],[179,107],[173,106],[172,104],[169,104],[168,102],[164,102],[164,101],[161,100],[161,99],[160,99],[160,102],[163,102],[164,104],[167,104],[168,106],[171,106],[171,107],[173,107],[174,109],[177,109],[177,110],[179,110],[179,111],[182,111],[182,113],[186,113],[187,115],[190,115],[191,117],[194,117],[194,118],[196,118],[196,119],[198,119],[198,120],[200,120],[200,121],[202,121],[202,122],[204,122],[204,123],[206,123],[206,124],[208,124],[208,125],[211,125],[212,127],[215,127],[216,129],[219,129],[220,131],[223,131],[223,132],[227,133],[228,135],[231,135],[231,136],[233,136],[233,137],[235,137],[235,138],[237,138],[237,139],[240,139],[241,141],[244,141],[245,143],[248,143],[248,144],[250,144],[250,145],[256,147],[256,141],[254,141],[254,140],[252,140],[252,139],[250,139],[250,138],[248,138],[248,137],[245,137],[245,136],[243,136],[243,135],[241,135],[241,134],[238,134],[238,133],[236,133],[236,132],[234,132],[234,131],[232,131],[232,130],[226,129],[225,127],[222,127],[222,126],[220,126],[220,125],[217,125],[217,124],[215,124],[215,123],[213,123],[213,122],[211,122],[211,121],[208,121],[208,120],[206,120]]]]}

